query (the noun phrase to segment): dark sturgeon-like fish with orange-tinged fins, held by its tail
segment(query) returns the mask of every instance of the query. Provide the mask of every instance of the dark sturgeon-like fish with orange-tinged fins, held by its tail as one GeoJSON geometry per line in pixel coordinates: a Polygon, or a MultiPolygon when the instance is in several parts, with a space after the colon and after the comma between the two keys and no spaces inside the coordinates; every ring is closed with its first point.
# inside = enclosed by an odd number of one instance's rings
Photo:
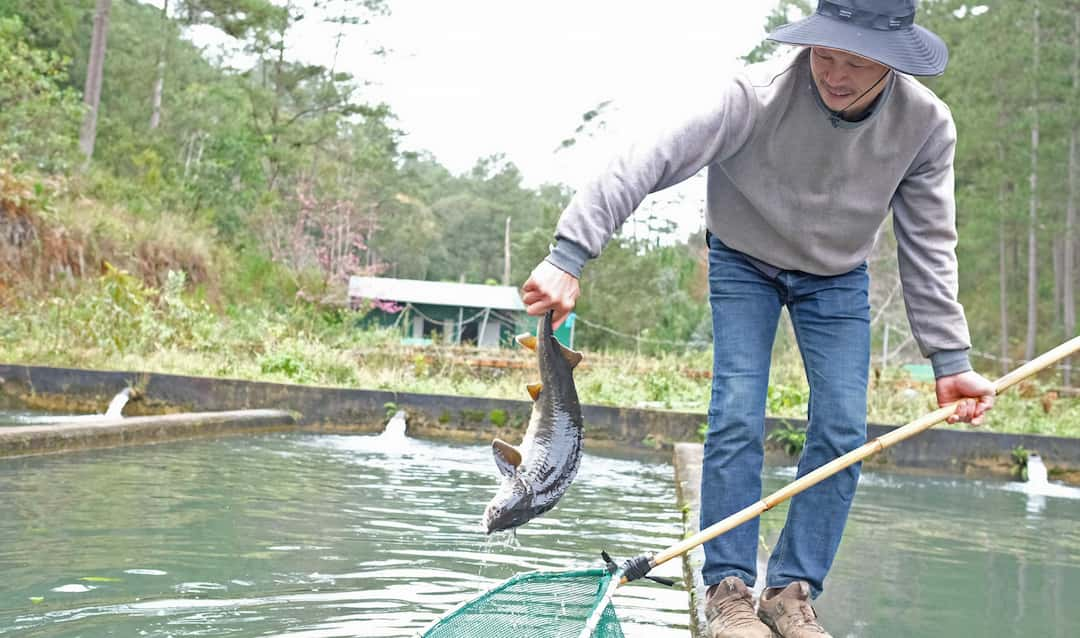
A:
{"type": "Polygon", "coordinates": [[[525,525],[554,507],[581,465],[584,429],[573,368],[582,357],[558,342],[551,324],[548,311],[536,337],[516,337],[519,344],[536,351],[540,382],[526,386],[532,413],[521,446],[500,438],[491,442],[502,483],[484,510],[489,534],[525,525]]]}

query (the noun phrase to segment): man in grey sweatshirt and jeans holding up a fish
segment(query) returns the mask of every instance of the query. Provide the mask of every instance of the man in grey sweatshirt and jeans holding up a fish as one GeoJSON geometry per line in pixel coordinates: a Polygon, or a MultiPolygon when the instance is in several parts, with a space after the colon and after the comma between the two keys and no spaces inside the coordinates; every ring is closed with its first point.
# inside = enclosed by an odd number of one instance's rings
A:
{"type": "MultiPolygon", "coordinates": [[[[821,0],[772,40],[806,46],[724,82],[700,116],[630,149],[564,212],[551,255],[523,287],[530,314],[561,321],[586,259],[650,192],[708,167],[713,390],[702,467],[702,527],[760,499],[769,361],[786,307],[810,384],[798,475],[865,442],[869,368],[866,258],[893,213],[912,331],[953,421],[982,422],[993,384],[972,371],[957,301],[948,108],[912,76],[948,53],[914,25],[915,0],[821,0]]],[[[828,636],[810,599],[839,547],[859,466],[792,499],[755,614],[758,524],[705,544],[714,636],[828,636]]]]}

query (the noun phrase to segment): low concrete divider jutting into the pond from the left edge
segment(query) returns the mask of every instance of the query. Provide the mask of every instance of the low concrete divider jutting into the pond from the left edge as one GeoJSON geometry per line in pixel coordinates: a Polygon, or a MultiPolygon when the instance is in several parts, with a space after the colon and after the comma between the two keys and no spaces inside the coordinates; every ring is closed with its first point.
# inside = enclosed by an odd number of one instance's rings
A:
{"type": "Polygon", "coordinates": [[[188,412],[119,419],[102,417],[67,423],[13,425],[0,427],[0,458],[295,429],[296,418],[283,410],[188,412]]]}

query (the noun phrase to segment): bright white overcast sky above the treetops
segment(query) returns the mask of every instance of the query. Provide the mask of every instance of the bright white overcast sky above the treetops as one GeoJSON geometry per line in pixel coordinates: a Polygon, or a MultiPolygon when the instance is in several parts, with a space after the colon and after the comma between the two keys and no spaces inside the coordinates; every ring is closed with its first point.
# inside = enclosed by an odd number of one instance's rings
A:
{"type": "MultiPolygon", "coordinates": [[[[151,2],[160,5],[160,0],[151,2]]],[[[775,0],[389,0],[391,15],[354,30],[337,68],[386,101],[407,133],[458,174],[503,153],[526,185],[576,187],[629,135],[659,126],[664,112],[738,69],[764,38],[775,0]],[[368,52],[384,46],[384,58],[368,52]],[[554,152],[581,116],[603,100],[607,127],[554,152]]],[[[294,57],[328,65],[336,27],[300,23],[294,57]]],[[[210,42],[195,33],[197,42],[210,42]]],[[[701,178],[648,206],[689,233],[701,226],[701,178]]],[[[640,221],[649,213],[639,212],[640,221]]]]}

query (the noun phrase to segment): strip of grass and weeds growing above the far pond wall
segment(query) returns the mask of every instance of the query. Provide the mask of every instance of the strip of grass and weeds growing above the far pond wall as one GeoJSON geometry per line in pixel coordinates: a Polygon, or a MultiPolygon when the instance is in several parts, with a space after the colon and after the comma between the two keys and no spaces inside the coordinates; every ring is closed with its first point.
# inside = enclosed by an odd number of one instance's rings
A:
{"type": "MultiPolygon", "coordinates": [[[[402,347],[397,332],[353,327],[355,315],[347,311],[302,303],[213,310],[185,293],[181,275],[163,279],[153,288],[107,269],[0,309],[0,361],[516,399],[537,380],[531,355],[521,349],[499,355],[518,358],[522,368],[478,368],[470,349],[402,347]]],[[[710,380],[702,372],[710,366],[708,352],[586,352],[575,377],[584,403],[704,413],[710,380]]],[[[1080,436],[1080,398],[1055,398],[1052,380],[1022,383],[998,398],[983,427],[1080,436]]],[[[805,418],[808,399],[798,354],[781,339],[767,412],[805,418]]],[[[872,375],[870,422],[902,424],[935,407],[932,383],[899,368],[872,375]]]]}

